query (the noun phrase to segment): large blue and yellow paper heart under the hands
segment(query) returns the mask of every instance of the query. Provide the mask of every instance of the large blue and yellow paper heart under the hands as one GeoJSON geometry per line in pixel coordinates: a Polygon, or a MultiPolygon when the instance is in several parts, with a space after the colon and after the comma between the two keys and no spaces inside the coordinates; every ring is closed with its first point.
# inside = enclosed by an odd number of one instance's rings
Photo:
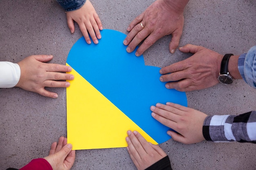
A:
{"type": "Polygon", "coordinates": [[[153,144],[167,141],[170,128],[151,117],[150,106],[187,106],[186,94],[166,89],[160,68],[127,53],[125,34],[103,30],[101,36],[99,44],[80,38],[67,57],[75,76],[67,88],[68,143],[74,150],[126,147],[127,130],[137,130],[153,144]]]}

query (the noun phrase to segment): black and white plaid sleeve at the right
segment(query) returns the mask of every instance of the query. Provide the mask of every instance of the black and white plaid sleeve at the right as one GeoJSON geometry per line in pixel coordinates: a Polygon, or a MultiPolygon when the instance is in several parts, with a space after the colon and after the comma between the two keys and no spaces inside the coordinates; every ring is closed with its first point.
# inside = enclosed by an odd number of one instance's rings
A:
{"type": "Polygon", "coordinates": [[[238,141],[256,144],[256,111],[242,115],[208,116],[203,125],[207,141],[238,141]]]}

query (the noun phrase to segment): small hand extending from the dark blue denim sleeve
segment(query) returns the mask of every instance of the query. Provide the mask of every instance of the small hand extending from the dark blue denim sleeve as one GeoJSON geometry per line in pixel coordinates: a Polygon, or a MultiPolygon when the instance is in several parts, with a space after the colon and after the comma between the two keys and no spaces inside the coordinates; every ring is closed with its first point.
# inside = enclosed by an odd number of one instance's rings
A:
{"type": "Polygon", "coordinates": [[[75,31],[75,21],[79,25],[79,28],[85,38],[85,41],[88,44],[91,44],[88,32],[94,44],[99,43],[98,39],[101,39],[101,33],[99,30],[102,30],[103,27],[98,14],[96,13],[94,7],[92,6],[92,3],[89,0],[86,0],[85,4],[80,9],[77,9],[75,11],[68,11],[66,13],[67,25],[70,28],[71,33],[74,33],[75,31]]]}

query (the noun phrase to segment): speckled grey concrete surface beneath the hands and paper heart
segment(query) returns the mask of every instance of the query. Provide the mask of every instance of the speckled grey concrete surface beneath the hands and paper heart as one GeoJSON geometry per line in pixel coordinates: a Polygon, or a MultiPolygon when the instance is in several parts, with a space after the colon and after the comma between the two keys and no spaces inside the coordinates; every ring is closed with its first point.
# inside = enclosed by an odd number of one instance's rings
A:
{"type": "MultiPolygon", "coordinates": [[[[105,29],[128,33],[128,24],[154,0],[92,0],[105,29]]],[[[65,64],[73,35],[63,9],[54,0],[0,1],[0,60],[19,62],[29,55],[52,54],[51,63],[65,64]]],[[[185,9],[180,46],[205,46],[218,53],[241,54],[256,44],[255,0],[191,0],[185,9]]],[[[168,52],[171,36],[144,53],[147,65],[167,66],[189,54],[168,52]]],[[[50,88],[48,88],[50,89],[50,88]]],[[[21,168],[31,159],[48,155],[50,145],[66,135],[65,88],[51,88],[49,99],[20,88],[0,89],[0,165],[21,168]]],[[[238,115],[256,110],[256,91],[243,80],[186,93],[188,105],[208,115],[238,115]]],[[[256,169],[256,146],[203,141],[184,145],[172,139],[160,145],[174,170],[256,169]]],[[[126,148],[79,150],[72,170],[134,170],[126,148]]]]}

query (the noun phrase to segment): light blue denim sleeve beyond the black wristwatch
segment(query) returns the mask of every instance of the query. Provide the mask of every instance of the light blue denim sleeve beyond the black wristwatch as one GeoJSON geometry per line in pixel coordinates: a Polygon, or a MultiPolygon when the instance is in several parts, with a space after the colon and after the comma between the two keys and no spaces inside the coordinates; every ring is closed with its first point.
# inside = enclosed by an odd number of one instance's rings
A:
{"type": "Polygon", "coordinates": [[[245,82],[256,88],[256,46],[238,58],[238,70],[245,82]]]}

